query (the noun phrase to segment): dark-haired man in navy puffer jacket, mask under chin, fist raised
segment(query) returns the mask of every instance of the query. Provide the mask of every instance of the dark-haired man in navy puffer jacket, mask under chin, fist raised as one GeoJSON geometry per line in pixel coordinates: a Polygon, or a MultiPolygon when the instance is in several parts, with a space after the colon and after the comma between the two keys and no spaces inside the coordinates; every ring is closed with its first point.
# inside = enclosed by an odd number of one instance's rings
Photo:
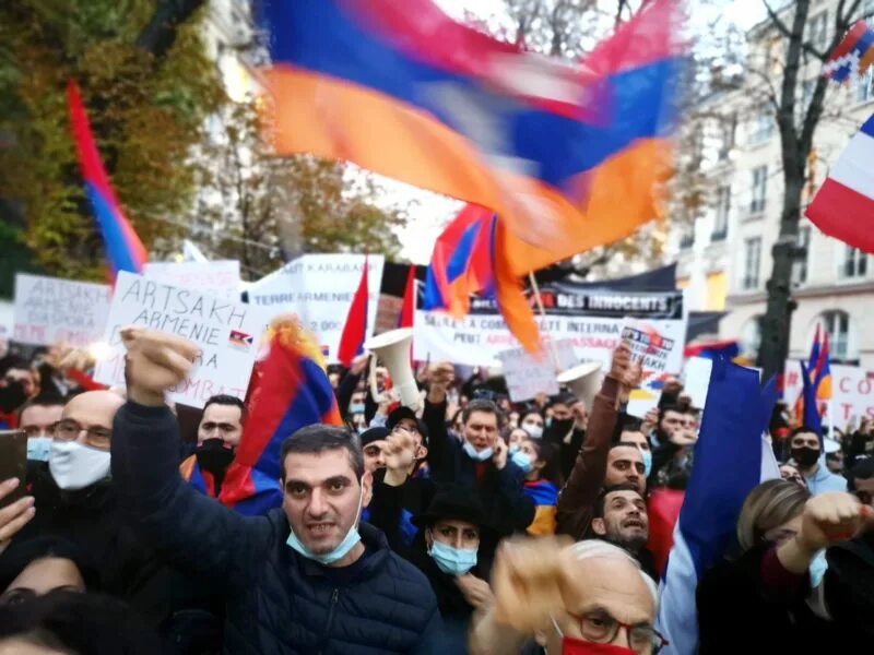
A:
{"type": "Polygon", "coordinates": [[[420,653],[440,627],[427,580],[358,524],[370,499],[357,440],[309,426],[283,443],[283,507],[243,516],[176,472],[178,430],[164,391],[197,347],[141,327],[122,331],[128,398],[115,421],[113,476],[144,540],[227,595],[225,652],[420,653]]]}

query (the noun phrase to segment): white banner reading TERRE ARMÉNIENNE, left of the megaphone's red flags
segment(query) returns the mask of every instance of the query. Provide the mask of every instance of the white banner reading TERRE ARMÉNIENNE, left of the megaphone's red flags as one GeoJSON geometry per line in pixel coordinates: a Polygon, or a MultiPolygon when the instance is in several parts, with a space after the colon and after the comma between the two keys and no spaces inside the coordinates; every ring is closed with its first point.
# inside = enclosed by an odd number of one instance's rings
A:
{"type": "MultiPolygon", "coordinates": [[[[279,271],[252,283],[249,302],[268,319],[292,311],[312,331],[329,362],[336,362],[336,349],[352,298],[362,279],[363,254],[305,254],[279,271]]],[[[385,258],[368,258],[367,333],[374,333],[385,258]]]]}

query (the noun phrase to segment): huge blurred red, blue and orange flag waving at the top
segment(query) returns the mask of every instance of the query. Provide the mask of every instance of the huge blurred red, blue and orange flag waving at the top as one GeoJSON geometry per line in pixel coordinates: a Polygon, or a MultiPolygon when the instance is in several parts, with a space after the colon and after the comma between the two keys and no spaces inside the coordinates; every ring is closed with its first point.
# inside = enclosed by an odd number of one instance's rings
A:
{"type": "Polygon", "coordinates": [[[515,281],[660,214],[675,4],[646,3],[570,67],[454,23],[432,0],[270,2],[276,150],[352,160],[497,214],[496,298],[535,349],[515,281]]]}

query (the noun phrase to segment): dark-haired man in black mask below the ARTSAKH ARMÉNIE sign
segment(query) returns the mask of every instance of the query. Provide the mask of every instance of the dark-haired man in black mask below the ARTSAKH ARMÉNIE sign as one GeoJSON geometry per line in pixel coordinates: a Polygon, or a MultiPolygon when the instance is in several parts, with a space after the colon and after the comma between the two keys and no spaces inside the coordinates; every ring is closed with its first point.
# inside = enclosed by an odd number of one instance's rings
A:
{"type": "Polygon", "coordinates": [[[203,406],[194,454],[179,466],[182,479],[201,493],[217,498],[225,472],[243,437],[246,405],[236,396],[214,395],[203,406]]]}

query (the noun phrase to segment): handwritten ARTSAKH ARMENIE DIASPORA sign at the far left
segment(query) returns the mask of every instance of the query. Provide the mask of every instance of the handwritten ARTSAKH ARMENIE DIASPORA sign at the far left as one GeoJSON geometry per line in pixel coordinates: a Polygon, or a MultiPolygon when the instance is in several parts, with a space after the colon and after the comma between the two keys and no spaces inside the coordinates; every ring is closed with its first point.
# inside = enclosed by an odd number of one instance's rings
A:
{"type": "Polygon", "coordinates": [[[13,338],[86,348],[101,340],[109,314],[109,287],[39,275],[15,275],[13,338]]]}

